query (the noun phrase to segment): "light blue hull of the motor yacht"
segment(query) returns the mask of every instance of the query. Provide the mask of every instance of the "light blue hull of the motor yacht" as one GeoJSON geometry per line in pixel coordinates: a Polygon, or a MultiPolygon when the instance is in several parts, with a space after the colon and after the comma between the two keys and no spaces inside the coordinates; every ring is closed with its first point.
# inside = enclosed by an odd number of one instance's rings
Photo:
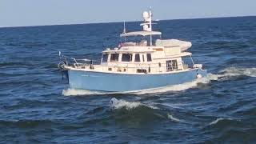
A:
{"type": "Polygon", "coordinates": [[[206,71],[194,69],[170,74],[110,74],[92,71],[69,70],[71,89],[101,91],[145,90],[191,82],[197,74],[206,71]]]}

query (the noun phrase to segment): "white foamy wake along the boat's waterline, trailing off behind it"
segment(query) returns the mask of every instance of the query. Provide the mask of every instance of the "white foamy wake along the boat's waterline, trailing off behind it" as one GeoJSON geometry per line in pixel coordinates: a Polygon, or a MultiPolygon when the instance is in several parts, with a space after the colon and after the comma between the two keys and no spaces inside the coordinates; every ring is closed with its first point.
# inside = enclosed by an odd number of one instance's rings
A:
{"type": "Polygon", "coordinates": [[[236,68],[236,67],[229,67],[224,70],[220,70],[218,74],[207,74],[204,78],[198,78],[193,82],[186,82],[179,85],[174,86],[166,86],[162,88],[155,88],[155,89],[147,89],[147,90],[135,90],[135,91],[126,91],[126,92],[101,92],[101,91],[93,91],[93,90],[74,90],[74,89],[67,89],[63,90],[62,94],[65,96],[71,95],[99,95],[99,94],[162,94],[169,91],[182,91],[187,90],[190,88],[197,87],[198,84],[208,84],[211,81],[222,81],[228,80],[229,78],[236,77],[236,76],[248,76],[248,77],[256,77],[256,68],[236,68]]]}

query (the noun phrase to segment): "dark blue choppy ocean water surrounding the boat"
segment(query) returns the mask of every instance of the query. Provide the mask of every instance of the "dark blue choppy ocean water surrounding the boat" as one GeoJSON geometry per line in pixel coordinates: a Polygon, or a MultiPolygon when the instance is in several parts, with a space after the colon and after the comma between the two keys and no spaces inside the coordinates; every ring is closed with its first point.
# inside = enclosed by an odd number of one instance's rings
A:
{"type": "Polygon", "coordinates": [[[69,90],[58,50],[99,59],[118,45],[122,23],[0,28],[0,142],[255,143],[256,17],[160,21],[154,30],[193,42],[207,77],[133,93],[69,90]]]}

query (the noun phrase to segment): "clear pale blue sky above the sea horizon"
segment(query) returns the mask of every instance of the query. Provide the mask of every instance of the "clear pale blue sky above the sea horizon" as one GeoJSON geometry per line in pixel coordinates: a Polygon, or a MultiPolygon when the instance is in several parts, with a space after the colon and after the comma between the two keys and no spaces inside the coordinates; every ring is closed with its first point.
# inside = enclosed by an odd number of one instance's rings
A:
{"type": "Polygon", "coordinates": [[[256,0],[0,0],[0,27],[256,15],[256,0]]]}

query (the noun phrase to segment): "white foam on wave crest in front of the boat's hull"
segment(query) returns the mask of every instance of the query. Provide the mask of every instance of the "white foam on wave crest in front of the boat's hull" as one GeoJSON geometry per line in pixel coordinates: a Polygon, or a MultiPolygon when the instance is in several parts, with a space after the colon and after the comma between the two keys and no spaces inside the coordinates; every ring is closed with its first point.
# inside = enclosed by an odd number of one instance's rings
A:
{"type": "Polygon", "coordinates": [[[155,106],[148,106],[146,104],[142,104],[141,102],[127,102],[125,100],[118,100],[117,98],[111,98],[110,100],[110,107],[113,109],[120,109],[120,108],[126,108],[126,110],[134,109],[138,106],[147,106],[151,109],[158,109],[155,106]]]}

